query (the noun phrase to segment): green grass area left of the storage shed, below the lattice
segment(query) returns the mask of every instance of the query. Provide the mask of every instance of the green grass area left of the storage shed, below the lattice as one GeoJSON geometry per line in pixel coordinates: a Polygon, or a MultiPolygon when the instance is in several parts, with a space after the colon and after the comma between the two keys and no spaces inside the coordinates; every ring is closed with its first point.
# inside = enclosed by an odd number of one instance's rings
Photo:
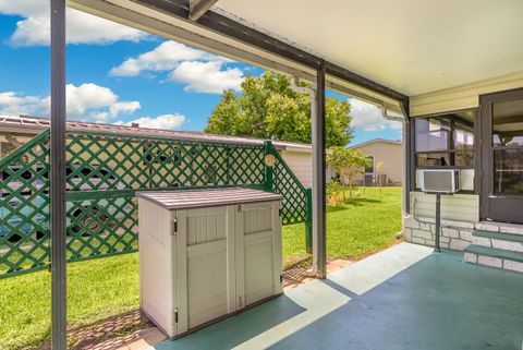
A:
{"type": "MultiPolygon", "coordinates": [[[[68,290],[70,325],[136,309],[138,254],[69,264],[68,290]]],[[[0,349],[29,349],[48,341],[50,311],[48,271],[0,279],[0,349]]]]}

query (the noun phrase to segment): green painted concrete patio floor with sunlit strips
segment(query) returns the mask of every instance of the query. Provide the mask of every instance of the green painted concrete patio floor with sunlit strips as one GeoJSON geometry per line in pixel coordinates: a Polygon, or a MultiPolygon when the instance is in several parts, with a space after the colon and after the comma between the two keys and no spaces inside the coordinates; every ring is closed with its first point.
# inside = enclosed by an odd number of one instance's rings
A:
{"type": "Polygon", "coordinates": [[[150,350],[521,350],[523,275],[401,243],[150,350]]]}

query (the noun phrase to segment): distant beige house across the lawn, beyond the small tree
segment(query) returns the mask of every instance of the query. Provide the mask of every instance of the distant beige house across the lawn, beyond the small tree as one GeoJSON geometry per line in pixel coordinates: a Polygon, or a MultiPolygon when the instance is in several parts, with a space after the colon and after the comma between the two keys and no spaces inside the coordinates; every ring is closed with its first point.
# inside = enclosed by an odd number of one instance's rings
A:
{"type": "Polygon", "coordinates": [[[354,184],[401,185],[403,169],[401,141],[375,138],[349,148],[360,150],[373,160],[373,164],[365,169],[364,174],[355,176],[354,184]],[[380,172],[377,170],[379,162],[382,164],[380,172]]]}

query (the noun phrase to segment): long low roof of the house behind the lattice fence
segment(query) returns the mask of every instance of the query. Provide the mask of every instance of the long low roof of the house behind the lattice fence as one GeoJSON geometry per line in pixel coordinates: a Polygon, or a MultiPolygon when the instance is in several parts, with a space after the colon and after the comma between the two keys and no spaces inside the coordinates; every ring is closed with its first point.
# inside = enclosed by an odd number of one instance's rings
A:
{"type": "MultiPolygon", "coordinates": [[[[19,132],[19,133],[38,133],[41,130],[50,128],[50,120],[48,118],[37,118],[29,116],[0,116],[0,131],[19,132]]],[[[165,129],[150,129],[118,124],[104,124],[82,121],[68,121],[68,131],[107,133],[114,135],[131,135],[131,136],[147,136],[147,137],[163,137],[177,140],[192,140],[192,141],[214,141],[236,144],[263,145],[263,138],[228,136],[209,134],[200,131],[175,131],[165,129]]],[[[285,150],[311,150],[309,144],[295,143],[272,140],[272,144],[278,149],[285,150]]]]}

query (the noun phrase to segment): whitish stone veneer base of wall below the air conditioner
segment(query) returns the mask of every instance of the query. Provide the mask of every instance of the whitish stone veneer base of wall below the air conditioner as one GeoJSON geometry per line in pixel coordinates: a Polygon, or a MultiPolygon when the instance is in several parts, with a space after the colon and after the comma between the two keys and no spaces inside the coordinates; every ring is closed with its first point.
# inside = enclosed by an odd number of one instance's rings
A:
{"type": "MultiPolygon", "coordinates": [[[[406,242],[434,246],[436,220],[434,218],[409,215],[403,217],[403,237],[406,242]]],[[[477,222],[479,224],[479,222],[477,222]]],[[[472,243],[472,232],[476,224],[467,221],[441,220],[440,246],[463,251],[472,243]]]]}

